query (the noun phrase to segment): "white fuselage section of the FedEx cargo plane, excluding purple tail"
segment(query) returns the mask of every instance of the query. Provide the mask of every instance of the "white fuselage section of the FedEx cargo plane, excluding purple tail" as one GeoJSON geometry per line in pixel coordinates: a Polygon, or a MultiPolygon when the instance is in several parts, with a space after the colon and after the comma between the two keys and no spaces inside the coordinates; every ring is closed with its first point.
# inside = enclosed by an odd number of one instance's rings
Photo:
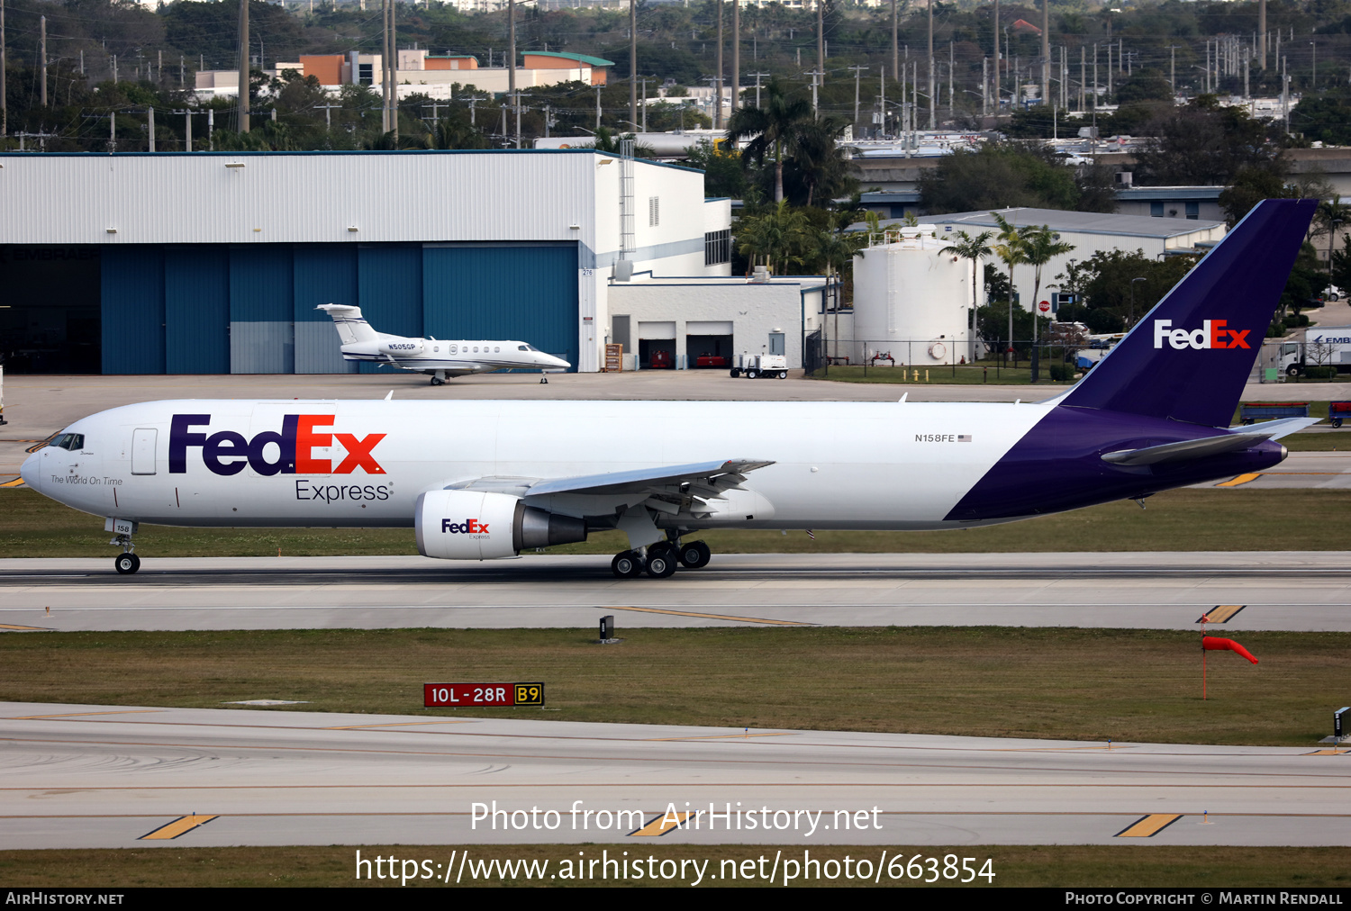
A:
{"type": "MultiPolygon", "coordinates": [[[[754,471],[746,487],[773,509],[719,526],[934,529],[954,525],[944,516],[1050,410],[1034,404],[182,399],[82,418],[66,428],[84,436],[82,447],[41,449],[23,476],[69,506],[136,522],[373,528],[412,525],[419,494],[484,478],[762,459],[774,464],[754,471]],[[174,416],[199,416],[190,425],[178,418],[176,452],[174,416]],[[284,447],[296,455],[284,456],[284,447]]],[[[526,502],[558,514],[613,510],[576,495],[527,495],[526,502]]]]}

